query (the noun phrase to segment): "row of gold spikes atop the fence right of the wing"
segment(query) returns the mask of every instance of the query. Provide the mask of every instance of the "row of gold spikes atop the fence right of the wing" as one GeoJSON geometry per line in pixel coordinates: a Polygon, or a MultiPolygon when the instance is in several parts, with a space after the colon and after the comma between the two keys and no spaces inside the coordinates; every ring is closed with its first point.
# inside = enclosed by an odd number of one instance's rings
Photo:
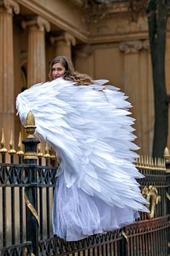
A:
{"type": "Polygon", "coordinates": [[[166,171],[166,163],[164,158],[152,158],[149,156],[141,155],[136,159],[135,166],[137,168],[166,171]]]}

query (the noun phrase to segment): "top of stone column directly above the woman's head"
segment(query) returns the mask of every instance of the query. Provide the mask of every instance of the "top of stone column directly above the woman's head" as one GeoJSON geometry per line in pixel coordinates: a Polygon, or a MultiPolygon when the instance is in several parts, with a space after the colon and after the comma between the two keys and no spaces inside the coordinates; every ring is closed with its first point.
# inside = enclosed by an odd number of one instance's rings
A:
{"type": "Polygon", "coordinates": [[[71,59],[71,46],[76,46],[76,38],[65,32],[61,35],[51,37],[51,43],[55,43],[55,56],[67,56],[71,59]]]}

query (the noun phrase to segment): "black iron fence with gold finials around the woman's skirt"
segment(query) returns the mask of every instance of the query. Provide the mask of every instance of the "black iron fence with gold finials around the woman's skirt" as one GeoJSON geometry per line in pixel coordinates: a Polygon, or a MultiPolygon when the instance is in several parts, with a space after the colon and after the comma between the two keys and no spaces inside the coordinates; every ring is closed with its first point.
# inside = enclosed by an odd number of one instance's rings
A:
{"type": "Polygon", "coordinates": [[[170,163],[140,158],[136,163],[146,178],[139,180],[143,196],[151,202],[150,214],[124,229],[66,242],[53,236],[51,216],[57,165],[55,154],[45,146],[42,154],[27,123],[28,137],[19,150],[11,140],[7,152],[1,140],[0,163],[0,255],[70,256],[168,256],[170,163]],[[49,153],[50,152],[50,153],[49,153]],[[6,155],[10,163],[6,163],[6,155]],[[14,158],[16,159],[14,161],[14,158]],[[14,163],[15,162],[15,163],[14,163]],[[17,163],[16,163],[17,162],[17,163]]]}

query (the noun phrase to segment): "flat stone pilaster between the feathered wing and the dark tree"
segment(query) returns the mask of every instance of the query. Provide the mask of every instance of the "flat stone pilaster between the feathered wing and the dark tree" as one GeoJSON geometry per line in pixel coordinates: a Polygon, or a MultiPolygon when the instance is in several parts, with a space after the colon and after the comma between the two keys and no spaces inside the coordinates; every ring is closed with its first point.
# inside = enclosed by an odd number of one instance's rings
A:
{"type": "Polygon", "coordinates": [[[150,154],[153,142],[153,90],[151,82],[151,61],[147,41],[134,40],[120,43],[120,51],[125,53],[124,85],[125,93],[133,108],[136,119],[134,128],[138,136],[135,143],[140,147],[138,153],[150,154]]]}

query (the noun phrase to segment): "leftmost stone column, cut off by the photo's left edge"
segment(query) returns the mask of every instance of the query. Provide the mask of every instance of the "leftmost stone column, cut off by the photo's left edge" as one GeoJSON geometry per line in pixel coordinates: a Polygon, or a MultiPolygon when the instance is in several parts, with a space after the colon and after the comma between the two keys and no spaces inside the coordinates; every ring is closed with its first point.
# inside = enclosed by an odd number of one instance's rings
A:
{"type": "MultiPolygon", "coordinates": [[[[0,1],[0,128],[6,141],[14,131],[14,48],[12,12],[19,14],[16,1],[0,1]]],[[[1,131],[0,131],[1,134],[1,131]]]]}

